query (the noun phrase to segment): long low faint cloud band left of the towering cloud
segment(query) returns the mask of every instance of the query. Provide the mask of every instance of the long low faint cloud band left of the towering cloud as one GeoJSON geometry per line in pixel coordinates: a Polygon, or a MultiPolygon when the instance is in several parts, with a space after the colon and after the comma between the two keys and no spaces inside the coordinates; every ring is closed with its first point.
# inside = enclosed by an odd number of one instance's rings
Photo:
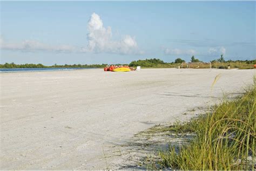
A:
{"type": "Polygon", "coordinates": [[[8,43],[0,37],[0,47],[3,50],[19,50],[24,52],[31,51],[51,51],[51,52],[73,52],[76,51],[76,47],[70,45],[56,45],[51,46],[36,40],[24,40],[21,43],[8,43]]]}

